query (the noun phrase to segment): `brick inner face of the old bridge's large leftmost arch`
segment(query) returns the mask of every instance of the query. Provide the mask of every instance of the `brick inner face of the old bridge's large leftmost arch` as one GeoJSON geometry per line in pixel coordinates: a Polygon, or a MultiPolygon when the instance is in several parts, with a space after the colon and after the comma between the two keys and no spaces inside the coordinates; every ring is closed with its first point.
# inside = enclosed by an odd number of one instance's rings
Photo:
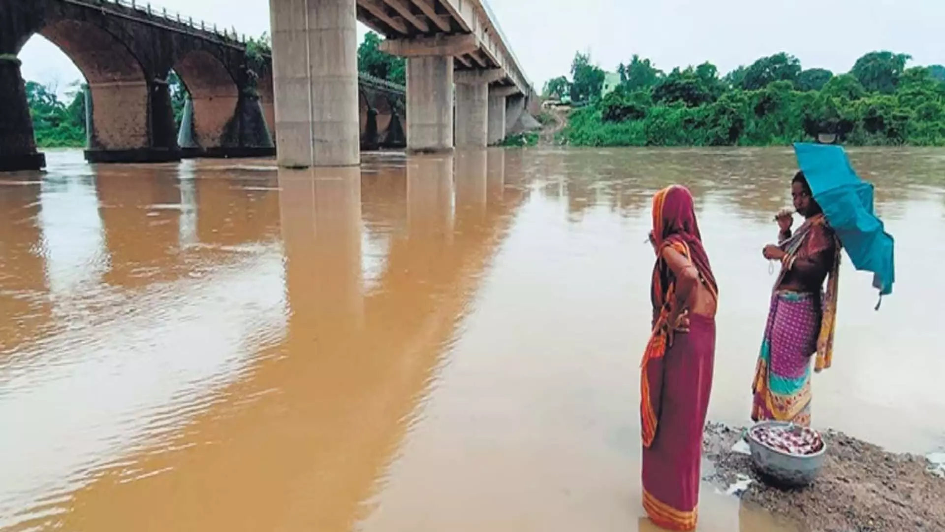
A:
{"type": "Polygon", "coordinates": [[[74,62],[92,93],[91,149],[130,150],[149,145],[145,69],[112,33],[87,22],[57,20],[38,33],[74,62]]]}

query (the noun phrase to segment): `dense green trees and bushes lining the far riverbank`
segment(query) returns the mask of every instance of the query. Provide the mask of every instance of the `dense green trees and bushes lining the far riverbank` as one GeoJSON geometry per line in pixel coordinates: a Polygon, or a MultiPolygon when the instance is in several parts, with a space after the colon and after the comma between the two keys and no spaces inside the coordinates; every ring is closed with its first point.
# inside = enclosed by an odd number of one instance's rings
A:
{"type": "Polygon", "coordinates": [[[720,76],[711,62],[668,74],[634,55],[601,98],[605,73],[577,53],[571,79],[544,86],[578,107],[561,140],[579,146],[766,146],[835,133],[855,145],[945,146],[945,66],[870,52],[835,75],[779,53],[720,76]]]}

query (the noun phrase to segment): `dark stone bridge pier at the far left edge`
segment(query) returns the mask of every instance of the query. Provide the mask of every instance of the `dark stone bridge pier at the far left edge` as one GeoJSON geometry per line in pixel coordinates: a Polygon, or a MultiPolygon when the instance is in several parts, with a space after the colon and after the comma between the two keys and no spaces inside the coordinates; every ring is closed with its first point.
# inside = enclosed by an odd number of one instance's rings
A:
{"type": "Polygon", "coordinates": [[[9,56],[0,56],[0,116],[0,171],[46,166],[45,156],[36,151],[20,60],[9,56]]]}

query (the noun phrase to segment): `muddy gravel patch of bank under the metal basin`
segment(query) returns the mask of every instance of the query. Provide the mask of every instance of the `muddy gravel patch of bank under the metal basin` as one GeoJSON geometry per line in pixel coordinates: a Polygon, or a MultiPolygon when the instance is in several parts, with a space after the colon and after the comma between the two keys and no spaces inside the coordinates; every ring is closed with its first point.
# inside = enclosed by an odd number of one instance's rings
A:
{"type": "Polygon", "coordinates": [[[702,451],[714,469],[704,480],[805,532],[945,530],[945,478],[923,456],[885,452],[828,431],[820,477],[807,488],[782,490],[765,485],[752,470],[747,446],[736,446],[742,431],[718,423],[706,426],[702,451]]]}

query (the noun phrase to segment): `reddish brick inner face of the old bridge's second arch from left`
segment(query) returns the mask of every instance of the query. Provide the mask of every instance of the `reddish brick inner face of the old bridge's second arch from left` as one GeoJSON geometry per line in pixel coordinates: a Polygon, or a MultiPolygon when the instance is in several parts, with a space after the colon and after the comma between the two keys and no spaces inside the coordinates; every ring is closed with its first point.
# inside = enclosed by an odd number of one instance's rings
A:
{"type": "Polygon", "coordinates": [[[239,87],[230,70],[205,50],[187,52],[173,68],[194,102],[194,140],[203,149],[227,144],[239,102],[239,87]]]}

